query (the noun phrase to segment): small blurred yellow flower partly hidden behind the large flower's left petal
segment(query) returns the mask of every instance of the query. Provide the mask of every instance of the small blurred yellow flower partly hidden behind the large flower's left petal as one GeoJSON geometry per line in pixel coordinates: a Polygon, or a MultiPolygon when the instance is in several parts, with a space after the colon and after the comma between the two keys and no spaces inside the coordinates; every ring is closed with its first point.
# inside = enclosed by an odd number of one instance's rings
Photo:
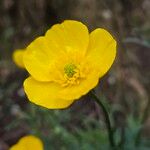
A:
{"type": "Polygon", "coordinates": [[[25,52],[24,49],[17,49],[13,52],[13,61],[20,68],[24,68],[24,63],[23,63],[24,52],[25,52]]]}

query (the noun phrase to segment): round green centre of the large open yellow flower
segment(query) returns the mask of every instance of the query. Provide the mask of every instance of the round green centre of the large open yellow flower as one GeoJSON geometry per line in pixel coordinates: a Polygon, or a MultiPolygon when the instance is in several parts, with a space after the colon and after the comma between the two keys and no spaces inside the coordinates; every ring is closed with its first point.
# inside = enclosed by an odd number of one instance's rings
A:
{"type": "Polygon", "coordinates": [[[77,69],[76,65],[73,63],[70,63],[70,64],[65,65],[64,72],[69,78],[72,78],[73,75],[76,73],[76,69],[77,69]]]}

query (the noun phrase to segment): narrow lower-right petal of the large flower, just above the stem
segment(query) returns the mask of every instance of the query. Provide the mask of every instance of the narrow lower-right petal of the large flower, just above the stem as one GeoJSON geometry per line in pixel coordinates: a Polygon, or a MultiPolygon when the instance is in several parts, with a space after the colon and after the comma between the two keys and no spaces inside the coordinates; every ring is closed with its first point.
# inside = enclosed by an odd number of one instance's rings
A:
{"type": "Polygon", "coordinates": [[[73,86],[67,86],[60,90],[59,96],[62,99],[74,99],[77,100],[81,96],[87,94],[91,89],[93,89],[99,82],[99,75],[97,70],[92,69],[86,75],[85,79],[81,79],[79,84],[73,86]]]}

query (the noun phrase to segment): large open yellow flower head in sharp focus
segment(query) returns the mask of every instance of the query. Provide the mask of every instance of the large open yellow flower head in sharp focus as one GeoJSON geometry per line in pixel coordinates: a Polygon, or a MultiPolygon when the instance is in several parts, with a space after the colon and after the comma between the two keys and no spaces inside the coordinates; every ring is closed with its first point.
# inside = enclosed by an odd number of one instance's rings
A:
{"type": "Polygon", "coordinates": [[[24,65],[31,75],[25,92],[37,105],[66,108],[98,84],[115,55],[116,41],[106,30],[89,34],[78,21],[56,24],[25,51],[24,65]]]}

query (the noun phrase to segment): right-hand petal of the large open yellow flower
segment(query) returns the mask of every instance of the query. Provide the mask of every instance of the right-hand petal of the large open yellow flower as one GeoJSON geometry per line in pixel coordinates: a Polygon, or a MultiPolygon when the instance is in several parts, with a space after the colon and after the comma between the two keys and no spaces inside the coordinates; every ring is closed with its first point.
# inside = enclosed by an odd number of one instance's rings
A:
{"type": "Polygon", "coordinates": [[[96,29],[90,34],[87,59],[99,69],[102,77],[111,67],[116,56],[116,41],[104,29],[96,29]]]}

